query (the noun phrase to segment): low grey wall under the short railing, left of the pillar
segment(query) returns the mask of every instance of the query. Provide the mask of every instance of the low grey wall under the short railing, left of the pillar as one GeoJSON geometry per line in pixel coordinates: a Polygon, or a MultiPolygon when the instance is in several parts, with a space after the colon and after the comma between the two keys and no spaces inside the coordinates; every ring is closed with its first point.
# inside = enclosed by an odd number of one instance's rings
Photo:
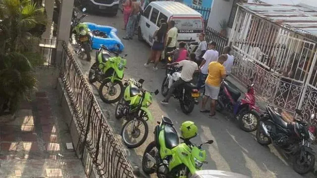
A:
{"type": "Polygon", "coordinates": [[[38,80],[37,89],[54,89],[57,85],[59,67],[36,67],[35,75],[38,80]]]}

